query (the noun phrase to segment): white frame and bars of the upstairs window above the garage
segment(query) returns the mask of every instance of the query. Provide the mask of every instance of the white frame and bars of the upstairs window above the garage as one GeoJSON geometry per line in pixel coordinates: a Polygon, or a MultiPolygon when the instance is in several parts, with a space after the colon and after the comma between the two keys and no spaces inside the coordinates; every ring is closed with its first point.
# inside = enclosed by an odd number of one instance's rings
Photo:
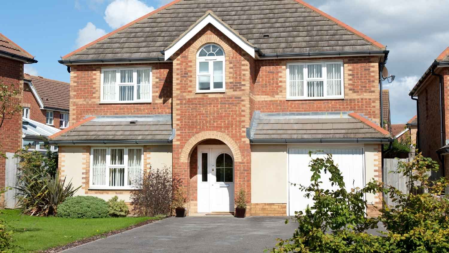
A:
{"type": "Polygon", "coordinates": [[[326,100],[344,98],[344,62],[343,61],[317,61],[317,62],[287,62],[286,65],[286,100],[326,100]],[[308,78],[308,65],[321,65],[321,78],[308,78]],[[328,64],[340,64],[341,95],[327,95],[327,67],[328,64]],[[290,96],[290,66],[303,65],[303,96],[290,96]],[[323,97],[308,97],[307,82],[323,81],[323,97]]]}

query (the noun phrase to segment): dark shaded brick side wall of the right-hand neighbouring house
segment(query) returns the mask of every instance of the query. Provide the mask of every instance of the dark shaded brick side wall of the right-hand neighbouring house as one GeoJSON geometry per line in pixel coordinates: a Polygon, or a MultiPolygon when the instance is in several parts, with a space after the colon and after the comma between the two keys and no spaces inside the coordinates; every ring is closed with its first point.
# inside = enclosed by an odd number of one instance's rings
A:
{"type": "Polygon", "coordinates": [[[424,156],[431,157],[440,163],[436,154],[441,147],[439,78],[428,76],[422,85],[418,93],[420,151],[424,156]]]}

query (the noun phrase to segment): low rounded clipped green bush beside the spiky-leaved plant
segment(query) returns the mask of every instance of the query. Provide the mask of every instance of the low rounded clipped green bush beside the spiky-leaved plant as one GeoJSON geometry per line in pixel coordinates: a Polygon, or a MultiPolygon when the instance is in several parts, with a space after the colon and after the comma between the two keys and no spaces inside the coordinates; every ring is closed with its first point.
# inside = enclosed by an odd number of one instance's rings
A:
{"type": "Polygon", "coordinates": [[[105,218],[109,217],[109,205],[94,196],[67,198],[58,206],[58,217],[64,218],[105,218]]]}

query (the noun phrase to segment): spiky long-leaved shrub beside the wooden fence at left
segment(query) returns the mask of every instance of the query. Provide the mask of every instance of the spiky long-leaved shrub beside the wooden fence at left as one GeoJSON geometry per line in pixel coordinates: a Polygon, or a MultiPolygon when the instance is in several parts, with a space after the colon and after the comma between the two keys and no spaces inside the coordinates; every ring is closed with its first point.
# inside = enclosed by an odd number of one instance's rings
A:
{"type": "Polygon", "coordinates": [[[22,182],[16,187],[21,213],[31,216],[56,215],[57,206],[81,187],[74,189],[71,182],[66,186],[65,183],[66,178],[61,181],[58,173],[54,177],[46,173],[22,175],[22,182]]]}

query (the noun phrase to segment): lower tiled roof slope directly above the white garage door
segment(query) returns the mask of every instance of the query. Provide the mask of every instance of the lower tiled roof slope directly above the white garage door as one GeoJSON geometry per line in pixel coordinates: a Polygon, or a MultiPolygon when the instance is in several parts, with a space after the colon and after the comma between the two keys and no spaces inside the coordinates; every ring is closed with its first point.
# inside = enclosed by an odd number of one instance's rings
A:
{"type": "Polygon", "coordinates": [[[390,134],[350,112],[260,113],[255,112],[249,130],[252,142],[310,141],[388,142],[390,134]],[[344,139],[344,140],[343,140],[344,139]]]}

